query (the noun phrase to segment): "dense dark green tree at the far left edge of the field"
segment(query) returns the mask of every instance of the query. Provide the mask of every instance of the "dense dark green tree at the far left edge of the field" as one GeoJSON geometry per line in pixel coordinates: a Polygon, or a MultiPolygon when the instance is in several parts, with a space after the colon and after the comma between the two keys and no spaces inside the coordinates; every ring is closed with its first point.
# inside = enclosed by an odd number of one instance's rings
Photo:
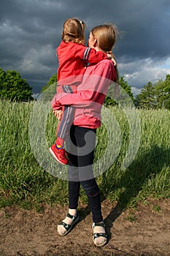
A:
{"type": "Polygon", "coordinates": [[[28,102],[33,100],[32,89],[15,70],[4,72],[0,68],[0,98],[28,102]]]}

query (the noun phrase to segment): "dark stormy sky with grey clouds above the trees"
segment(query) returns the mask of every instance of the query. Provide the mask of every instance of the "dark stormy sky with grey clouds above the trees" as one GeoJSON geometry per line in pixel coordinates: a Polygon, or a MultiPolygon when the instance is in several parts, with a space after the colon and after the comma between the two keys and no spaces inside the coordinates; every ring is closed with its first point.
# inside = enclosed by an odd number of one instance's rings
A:
{"type": "Polygon", "coordinates": [[[170,74],[169,0],[1,0],[0,67],[20,72],[34,94],[58,68],[55,48],[64,20],[93,26],[115,23],[117,67],[134,95],[170,74]]]}

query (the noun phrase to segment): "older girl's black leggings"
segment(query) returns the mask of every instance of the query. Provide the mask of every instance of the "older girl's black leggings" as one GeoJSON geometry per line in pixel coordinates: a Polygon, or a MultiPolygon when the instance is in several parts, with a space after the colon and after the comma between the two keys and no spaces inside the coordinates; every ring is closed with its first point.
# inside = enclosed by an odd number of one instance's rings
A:
{"type": "Polygon", "coordinates": [[[80,184],[88,196],[93,222],[101,222],[101,199],[93,176],[93,156],[96,143],[96,129],[72,125],[70,136],[66,139],[69,152],[69,208],[78,206],[80,184]]]}

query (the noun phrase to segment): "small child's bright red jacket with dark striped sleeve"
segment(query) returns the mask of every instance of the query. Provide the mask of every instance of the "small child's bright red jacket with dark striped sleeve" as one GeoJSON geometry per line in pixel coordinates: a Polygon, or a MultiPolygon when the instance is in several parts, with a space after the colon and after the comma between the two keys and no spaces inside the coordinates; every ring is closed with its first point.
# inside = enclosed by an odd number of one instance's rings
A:
{"type": "Polygon", "coordinates": [[[96,64],[107,59],[107,53],[96,51],[93,48],[75,42],[61,42],[56,49],[58,56],[58,91],[60,86],[81,83],[87,64],[96,64]]]}

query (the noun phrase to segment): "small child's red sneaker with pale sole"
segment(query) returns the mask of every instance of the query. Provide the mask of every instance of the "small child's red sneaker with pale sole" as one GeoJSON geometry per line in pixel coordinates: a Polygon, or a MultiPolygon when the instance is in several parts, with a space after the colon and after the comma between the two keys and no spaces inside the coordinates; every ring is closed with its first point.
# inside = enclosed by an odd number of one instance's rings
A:
{"type": "Polygon", "coordinates": [[[68,159],[66,158],[66,151],[64,148],[57,148],[56,144],[53,144],[49,148],[50,153],[57,162],[60,162],[62,165],[68,165],[68,159]]]}

